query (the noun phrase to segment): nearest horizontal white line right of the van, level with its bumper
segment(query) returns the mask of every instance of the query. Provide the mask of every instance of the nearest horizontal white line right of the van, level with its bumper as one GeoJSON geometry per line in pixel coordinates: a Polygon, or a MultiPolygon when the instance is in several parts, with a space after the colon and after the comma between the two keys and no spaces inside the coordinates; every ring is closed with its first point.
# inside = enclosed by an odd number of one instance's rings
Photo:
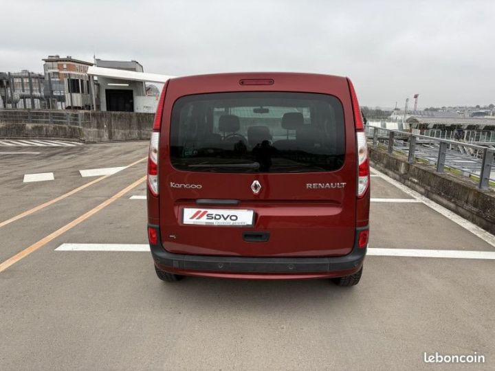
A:
{"type": "Polygon", "coordinates": [[[454,258],[495,260],[495,251],[426,250],[426,249],[377,249],[370,248],[369,256],[405,256],[410,258],[454,258]]]}

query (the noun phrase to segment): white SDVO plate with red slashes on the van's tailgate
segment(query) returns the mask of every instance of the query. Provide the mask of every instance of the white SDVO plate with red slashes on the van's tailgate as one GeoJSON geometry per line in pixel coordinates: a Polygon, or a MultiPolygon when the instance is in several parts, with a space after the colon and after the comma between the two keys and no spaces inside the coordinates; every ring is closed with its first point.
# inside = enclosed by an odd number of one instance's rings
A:
{"type": "Polygon", "coordinates": [[[182,223],[196,225],[253,225],[252,210],[184,208],[182,223]]]}

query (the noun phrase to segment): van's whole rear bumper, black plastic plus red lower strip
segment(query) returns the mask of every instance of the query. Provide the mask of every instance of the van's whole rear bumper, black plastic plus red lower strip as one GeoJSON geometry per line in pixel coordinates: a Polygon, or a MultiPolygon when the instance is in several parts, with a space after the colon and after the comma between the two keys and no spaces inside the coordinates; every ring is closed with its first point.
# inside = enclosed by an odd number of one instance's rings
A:
{"type": "MultiPolygon", "coordinates": [[[[157,229],[157,225],[149,225],[157,229]]],[[[349,276],[362,267],[366,247],[358,247],[356,229],[353,250],[345,256],[315,258],[278,258],[244,256],[203,256],[173,254],[162,246],[150,245],[155,265],[164,271],[190,276],[230,278],[327,278],[349,276]]],[[[159,233],[158,233],[158,236],[159,233]]],[[[160,240],[160,238],[158,238],[160,240]]]]}

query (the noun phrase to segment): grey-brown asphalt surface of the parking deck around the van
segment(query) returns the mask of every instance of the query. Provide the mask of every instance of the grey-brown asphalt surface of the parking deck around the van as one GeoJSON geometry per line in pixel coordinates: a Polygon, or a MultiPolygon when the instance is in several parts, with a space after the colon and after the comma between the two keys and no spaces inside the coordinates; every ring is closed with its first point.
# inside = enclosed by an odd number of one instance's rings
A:
{"type": "Polygon", "coordinates": [[[442,256],[492,254],[495,237],[379,172],[371,178],[376,255],[366,258],[358,286],[166,284],[145,250],[56,250],[146,245],[147,142],[42,146],[37,154],[5,148],[0,370],[495,368],[495,260],[442,256]],[[80,172],[95,169],[109,175],[80,172]],[[54,179],[24,181],[45,173],[54,179]],[[389,256],[393,249],[419,256],[389,256]],[[434,250],[439,257],[428,257],[434,250]],[[425,363],[424,352],[476,352],[485,363],[425,363]]]}

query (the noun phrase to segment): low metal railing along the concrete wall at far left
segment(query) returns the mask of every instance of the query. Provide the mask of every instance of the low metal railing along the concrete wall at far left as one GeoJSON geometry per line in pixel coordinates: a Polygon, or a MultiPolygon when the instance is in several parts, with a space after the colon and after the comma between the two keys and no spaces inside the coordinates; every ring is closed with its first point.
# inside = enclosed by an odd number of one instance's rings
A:
{"type": "Polygon", "coordinates": [[[56,124],[80,126],[83,114],[78,111],[34,111],[30,109],[22,110],[0,110],[0,122],[19,122],[30,124],[56,124]]]}

